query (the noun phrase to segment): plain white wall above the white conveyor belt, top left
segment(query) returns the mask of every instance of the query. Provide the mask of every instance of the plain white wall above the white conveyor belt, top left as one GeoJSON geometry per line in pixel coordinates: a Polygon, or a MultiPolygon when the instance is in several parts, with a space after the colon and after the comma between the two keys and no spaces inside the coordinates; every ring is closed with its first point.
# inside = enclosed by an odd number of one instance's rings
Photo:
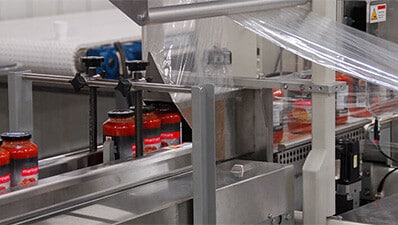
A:
{"type": "Polygon", "coordinates": [[[0,20],[112,8],[108,0],[0,0],[0,20]]]}

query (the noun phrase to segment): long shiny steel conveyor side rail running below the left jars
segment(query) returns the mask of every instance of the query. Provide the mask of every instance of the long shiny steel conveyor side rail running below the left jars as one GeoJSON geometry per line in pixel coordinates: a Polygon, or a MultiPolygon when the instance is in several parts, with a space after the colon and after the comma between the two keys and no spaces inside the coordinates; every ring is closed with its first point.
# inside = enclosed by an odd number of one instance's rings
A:
{"type": "Polygon", "coordinates": [[[15,222],[109,196],[187,171],[191,144],[142,159],[98,165],[39,180],[39,185],[0,196],[0,223],[15,222]]]}

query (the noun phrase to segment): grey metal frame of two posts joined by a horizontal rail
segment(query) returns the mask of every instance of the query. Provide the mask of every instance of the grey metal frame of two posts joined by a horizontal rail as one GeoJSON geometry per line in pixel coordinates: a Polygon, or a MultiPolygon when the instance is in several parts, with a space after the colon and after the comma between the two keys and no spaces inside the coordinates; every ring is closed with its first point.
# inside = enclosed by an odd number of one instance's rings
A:
{"type": "MultiPolygon", "coordinates": [[[[32,73],[11,73],[8,77],[10,127],[15,130],[33,131],[32,81],[68,84],[68,76],[43,75],[32,73]],[[28,118],[28,119],[27,119],[28,118]]],[[[215,184],[215,97],[214,86],[202,84],[192,87],[150,84],[130,81],[133,90],[151,90],[158,92],[192,93],[192,176],[195,186],[195,221],[200,224],[216,222],[216,184],[215,184]],[[199,210],[200,209],[200,210],[199,210]],[[202,210],[204,209],[204,210],[202,210]]],[[[88,79],[89,87],[114,88],[117,81],[88,79]]],[[[138,117],[138,116],[137,116],[138,117]]],[[[137,129],[139,129],[137,127],[137,129]]]]}

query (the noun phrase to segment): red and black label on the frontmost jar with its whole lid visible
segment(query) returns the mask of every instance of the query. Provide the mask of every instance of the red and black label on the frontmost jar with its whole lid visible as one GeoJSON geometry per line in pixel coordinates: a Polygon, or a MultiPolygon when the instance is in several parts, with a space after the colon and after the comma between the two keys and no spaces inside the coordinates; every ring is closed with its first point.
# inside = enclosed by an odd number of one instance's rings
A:
{"type": "Polygon", "coordinates": [[[37,184],[39,166],[37,157],[28,159],[11,159],[11,189],[19,190],[37,184]]]}

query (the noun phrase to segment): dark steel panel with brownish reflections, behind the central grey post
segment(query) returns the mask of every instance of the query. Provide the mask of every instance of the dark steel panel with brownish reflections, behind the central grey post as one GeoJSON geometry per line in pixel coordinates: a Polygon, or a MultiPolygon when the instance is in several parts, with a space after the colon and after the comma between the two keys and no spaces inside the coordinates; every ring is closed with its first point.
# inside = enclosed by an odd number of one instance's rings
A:
{"type": "MultiPolygon", "coordinates": [[[[265,152],[265,122],[259,93],[256,90],[243,89],[216,95],[215,130],[218,161],[255,151],[259,154],[265,152]]],[[[178,104],[178,106],[187,122],[191,124],[191,101],[178,104]]],[[[261,160],[264,159],[265,156],[261,158],[261,160]]]]}

